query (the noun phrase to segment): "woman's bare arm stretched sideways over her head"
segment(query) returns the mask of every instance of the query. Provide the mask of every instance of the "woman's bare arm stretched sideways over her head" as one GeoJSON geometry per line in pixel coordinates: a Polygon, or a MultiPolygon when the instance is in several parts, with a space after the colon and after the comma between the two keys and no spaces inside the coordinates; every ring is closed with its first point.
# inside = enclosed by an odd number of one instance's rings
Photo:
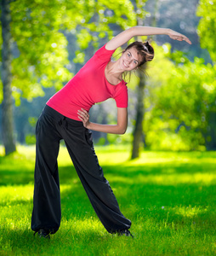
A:
{"type": "Polygon", "coordinates": [[[180,34],[179,32],[175,32],[169,28],[160,28],[152,26],[133,26],[119,33],[115,38],[111,38],[111,40],[107,44],[105,44],[105,49],[117,49],[118,47],[122,46],[122,44],[127,43],[131,38],[134,38],[136,36],[151,35],[168,35],[170,38],[174,40],[185,40],[188,44],[191,44],[189,38],[185,37],[185,35],[180,34]]]}

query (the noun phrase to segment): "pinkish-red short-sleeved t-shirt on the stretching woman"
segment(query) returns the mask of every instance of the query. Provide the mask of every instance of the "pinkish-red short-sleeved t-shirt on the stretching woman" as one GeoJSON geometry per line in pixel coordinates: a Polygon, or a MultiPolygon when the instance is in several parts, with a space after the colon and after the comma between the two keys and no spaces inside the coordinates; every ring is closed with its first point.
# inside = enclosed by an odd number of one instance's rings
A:
{"type": "Polygon", "coordinates": [[[112,85],[105,78],[105,67],[111,61],[114,51],[105,49],[105,45],[97,50],[80,71],[48,100],[47,105],[78,121],[78,109],[89,111],[95,103],[104,102],[108,98],[115,99],[117,108],[127,108],[127,83],[122,80],[112,85]]]}

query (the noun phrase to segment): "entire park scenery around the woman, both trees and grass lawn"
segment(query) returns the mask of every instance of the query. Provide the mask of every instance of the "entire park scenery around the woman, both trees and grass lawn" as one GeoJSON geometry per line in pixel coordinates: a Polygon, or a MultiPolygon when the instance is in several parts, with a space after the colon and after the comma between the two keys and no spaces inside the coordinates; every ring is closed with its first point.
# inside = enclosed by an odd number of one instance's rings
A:
{"type": "MultiPolygon", "coordinates": [[[[215,0],[1,1],[1,253],[215,253],[215,20],[215,0]],[[105,233],[62,143],[62,228],[52,244],[36,243],[30,222],[38,116],[96,49],[137,25],[171,28],[192,45],[166,35],[138,38],[150,40],[156,55],[128,82],[128,131],[94,132],[99,163],[134,220],[136,239],[105,233]]],[[[114,124],[115,102],[94,105],[90,119],[114,124]]]]}

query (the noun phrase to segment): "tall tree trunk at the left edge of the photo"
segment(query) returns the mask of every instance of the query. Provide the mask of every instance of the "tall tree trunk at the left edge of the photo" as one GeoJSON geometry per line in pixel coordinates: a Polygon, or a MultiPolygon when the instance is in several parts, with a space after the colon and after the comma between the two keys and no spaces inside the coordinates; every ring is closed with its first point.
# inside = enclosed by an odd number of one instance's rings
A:
{"type": "Polygon", "coordinates": [[[3,124],[3,145],[5,154],[10,154],[16,150],[14,143],[13,127],[13,102],[11,91],[11,61],[12,61],[12,37],[10,32],[10,9],[9,0],[2,0],[2,30],[3,30],[3,49],[2,49],[2,81],[3,81],[3,103],[2,103],[2,124],[3,124]]]}

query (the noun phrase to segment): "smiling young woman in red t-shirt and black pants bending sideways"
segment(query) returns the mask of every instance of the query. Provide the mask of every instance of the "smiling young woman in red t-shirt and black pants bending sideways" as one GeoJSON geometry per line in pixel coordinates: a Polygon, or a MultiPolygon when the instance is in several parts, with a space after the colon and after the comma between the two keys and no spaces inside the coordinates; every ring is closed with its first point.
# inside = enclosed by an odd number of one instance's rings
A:
{"type": "Polygon", "coordinates": [[[57,157],[60,140],[65,145],[82,185],[100,221],[110,233],[131,236],[131,221],[120,212],[94,152],[91,131],[123,134],[128,125],[128,90],[122,74],[151,61],[154,49],[148,43],[128,45],[117,61],[114,51],[135,36],[166,34],[190,43],[171,29],[134,26],[121,32],[100,48],[64,88],[51,97],[37,121],[35,187],[31,229],[49,238],[60,228],[60,182],[57,157]],[[88,111],[96,102],[114,98],[117,125],[99,125],[89,121],[88,111]]]}

